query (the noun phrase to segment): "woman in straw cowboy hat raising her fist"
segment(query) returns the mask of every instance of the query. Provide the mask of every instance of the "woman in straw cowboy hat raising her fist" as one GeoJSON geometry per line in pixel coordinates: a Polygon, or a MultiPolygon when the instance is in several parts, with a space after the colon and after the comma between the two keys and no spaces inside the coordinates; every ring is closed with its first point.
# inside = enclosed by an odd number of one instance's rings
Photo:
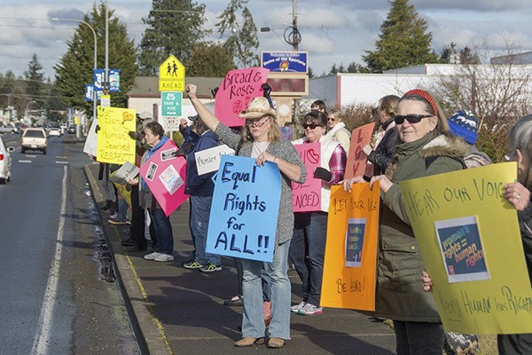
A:
{"type": "Polygon", "coordinates": [[[239,117],[246,120],[241,134],[233,132],[220,122],[196,96],[197,87],[186,86],[192,106],[200,119],[213,130],[227,146],[240,156],[255,159],[257,165],[275,162],[281,172],[281,198],[279,203],[275,251],[271,263],[242,259],[244,312],[242,316],[242,339],[235,346],[251,346],[263,343],[266,328],[262,307],[262,272],[271,278],[271,320],[268,329],[270,348],[280,348],[290,339],[290,280],[287,275],[288,248],[293,233],[292,181],[303,183],[306,170],[292,143],[282,138],[275,121],[276,111],[268,99],[252,99],[239,117]],[[264,269],[264,271],[262,271],[264,269]]]}

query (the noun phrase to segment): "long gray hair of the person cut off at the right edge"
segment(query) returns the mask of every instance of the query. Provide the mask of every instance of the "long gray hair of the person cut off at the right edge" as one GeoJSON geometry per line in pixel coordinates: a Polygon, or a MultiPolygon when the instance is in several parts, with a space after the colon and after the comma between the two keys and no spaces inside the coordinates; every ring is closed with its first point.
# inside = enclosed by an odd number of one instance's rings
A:
{"type": "Polygon", "coordinates": [[[532,188],[532,114],[520,118],[510,131],[508,155],[512,161],[517,160],[517,150],[523,155],[525,172],[519,176],[519,182],[528,190],[532,188]]]}

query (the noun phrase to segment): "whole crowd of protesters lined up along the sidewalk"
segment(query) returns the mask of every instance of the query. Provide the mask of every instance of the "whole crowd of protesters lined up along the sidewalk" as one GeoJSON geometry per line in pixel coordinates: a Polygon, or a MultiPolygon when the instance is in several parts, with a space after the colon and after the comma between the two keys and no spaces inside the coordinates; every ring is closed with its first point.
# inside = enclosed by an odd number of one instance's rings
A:
{"type": "MultiPolygon", "coordinates": [[[[425,271],[398,183],[491,163],[488,155],[475,146],[478,122],[474,115],[458,111],[447,117],[437,100],[419,89],[407,91],[401,98],[385,96],[379,99],[373,113],[374,143],[362,147],[368,158],[364,176],[344,179],[351,133],[341,122],[340,111],[327,112],[324,101],[312,103],[301,120],[301,127],[279,127],[271,99],[254,98],[239,113],[244,124],[237,132],[220,122],[201,103],[195,85],[187,85],[186,91],[198,115],[192,118],[192,125],[182,120],[180,127],[184,136],[180,154],[184,154],[187,161],[185,188],[191,195],[190,229],[194,246],[191,260],[183,263],[185,268],[201,272],[222,270],[221,257],[206,252],[208,219],[215,214],[211,211],[212,173],[198,174],[193,153],[225,144],[238,155],[254,158],[257,165],[276,163],[281,172],[278,220],[271,222],[277,225],[273,261],[235,259],[239,292],[224,303],[244,306],[242,338],[234,345],[246,347],[266,343],[270,348],[283,347],[290,339],[291,311],[308,316],[324,311],[320,295],[330,186],[343,185],[350,191],[353,184],[369,181],[370,185],[379,182],[381,198],[375,317],[393,320],[397,354],[442,354],[446,333],[434,296],[427,292],[433,281],[425,271]],[[304,136],[294,137],[296,131],[303,131],[304,136]],[[306,171],[293,145],[316,142],[321,146],[319,167],[306,171]],[[293,213],[292,182],[303,183],[309,178],[321,181],[320,209],[293,213]],[[387,245],[394,248],[383,247],[387,245]],[[287,276],[291,263],[301,278],[302,299],[298,304],[291,304],[287,276]]],[[[137,115],[137,132],[131,138],[137,139],[138,166],[168,140],[164,133],[160,124],[148,114],[137,115]]],[[[519,164],[519,181],[505,186],[505,198],[519,211],[520,231],[532,278],[531,137],[532,118],[527,116],[512,129],[508,156],[519,164]]],[[[120,198],[117,202],[107,179],[108,170],[113,167],[101,168],[107,196],[103,209],[116,213],[109,223],[129,225],[123,203],[120,198]]],[[[142,252],[147,251],[147,244],[152,241],[152,252],[146,254],[145,259],[173,261],[169,218],[142,177],[130,179],[129,184],[133,186],[131,238],[123,244],[130,247],[129,251],[142,252]]],[[[532,353],[532,335],[499,335],[498,347],[501,354],[532,353]]]]}

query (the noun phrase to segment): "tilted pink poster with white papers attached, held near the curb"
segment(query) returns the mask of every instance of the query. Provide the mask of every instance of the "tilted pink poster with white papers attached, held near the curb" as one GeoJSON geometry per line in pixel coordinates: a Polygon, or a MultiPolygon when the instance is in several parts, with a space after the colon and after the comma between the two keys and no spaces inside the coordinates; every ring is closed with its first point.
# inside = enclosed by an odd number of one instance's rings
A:
{"type": "Polygon", "coordinates": [[[140,175],[167,216],[188,199],[184,193],[185,170],[186,161],[177,156],[177,147],[171,140],[140,167],[140,175]]]}

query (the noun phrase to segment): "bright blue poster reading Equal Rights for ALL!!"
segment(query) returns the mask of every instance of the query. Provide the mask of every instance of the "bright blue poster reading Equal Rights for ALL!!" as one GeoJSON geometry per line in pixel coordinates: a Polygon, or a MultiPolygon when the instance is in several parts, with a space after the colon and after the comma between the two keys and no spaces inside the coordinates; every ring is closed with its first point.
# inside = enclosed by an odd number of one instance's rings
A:
{"type": "Polygon", "coordinates": [[[207,252],[271,262],[281,197],[278,165],[222,155],[208,221],[207,252]]]}

